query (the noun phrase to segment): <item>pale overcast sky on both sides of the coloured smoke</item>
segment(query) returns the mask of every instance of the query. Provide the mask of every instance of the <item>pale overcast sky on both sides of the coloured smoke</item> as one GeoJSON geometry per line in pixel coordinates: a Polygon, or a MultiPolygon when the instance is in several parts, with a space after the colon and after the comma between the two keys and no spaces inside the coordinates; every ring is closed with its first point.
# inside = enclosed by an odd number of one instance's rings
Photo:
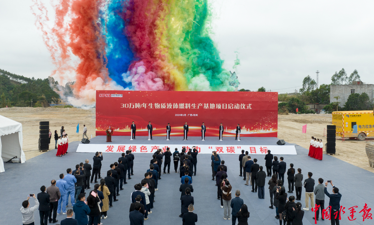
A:
{"type": "MultiPolygon", "coordinates": [[[[49,3],[48,0],[44,0],[49,3]]],[[[374,83],[372,1],[210,0],[212,39],[240,88],[264,86],[279,93],[300,89],[310,75],[331,83],[335,71],[358,70],[374,83]],[[280,90],[281,89],[281,90],[280,90]]],[[[26,77],[47,78],[53,65],[34,25],[31,0],[0,1],[0,68],[26,77]]]]}

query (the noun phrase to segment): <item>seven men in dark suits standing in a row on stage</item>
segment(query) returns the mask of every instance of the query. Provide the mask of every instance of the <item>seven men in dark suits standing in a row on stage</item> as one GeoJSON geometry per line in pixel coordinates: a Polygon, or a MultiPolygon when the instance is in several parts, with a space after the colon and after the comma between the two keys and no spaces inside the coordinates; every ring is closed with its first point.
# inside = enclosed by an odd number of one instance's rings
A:
{"type": "MultiPolygon", "coordinates": [[[[148,130],[148,134],[149,134],[150,139],[152,139],[153,126],[152,126],[151,122],[148,122],[147,130],[148,130]]],[[[136,131],[137,131],[137,126],[135,125],[135,122],[132,121],[132,124],[131,124],[131,139],[135,139],[136,131]]],[[[224,131],[223,125],[221,123],[220,127],[219,127],[219,139],[220,140],[222,140],[223,131],[224,131]]],[[[238,136],[238,133],[240,133],[240,131],[241,131],[241,127],[239,126],[239,123],[238,123],[237,126],[236,126],[235,140],[237,140],[237,136],[238,136]]],[[[201,132],[201,139],[205,140],[205,132],[206,132],[205,123],[202,123],[200,132],[201,132]]],[[[171,126],[170,126],[170,123],[168,123],[168,126],[166,126],[166,139],[170,139],[170,133],[171,133],[171,126]]],[[[183,125],[183,141],[187,141],[187,136],[188,136],[188,124],[186,122],[183,125]]]]}

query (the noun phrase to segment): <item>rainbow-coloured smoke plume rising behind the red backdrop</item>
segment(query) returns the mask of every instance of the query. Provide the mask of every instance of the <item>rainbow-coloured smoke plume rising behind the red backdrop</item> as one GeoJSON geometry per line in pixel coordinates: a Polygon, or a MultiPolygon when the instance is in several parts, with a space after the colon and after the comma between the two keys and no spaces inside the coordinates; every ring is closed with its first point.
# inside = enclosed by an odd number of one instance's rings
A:
{"type": "Polygon", "coordinates": [[[94,104],[95,90],[234,90],[206,0],[59,0],[54,21],[33,3],[52,77],[75,81],[73,105],[94,104]]]}

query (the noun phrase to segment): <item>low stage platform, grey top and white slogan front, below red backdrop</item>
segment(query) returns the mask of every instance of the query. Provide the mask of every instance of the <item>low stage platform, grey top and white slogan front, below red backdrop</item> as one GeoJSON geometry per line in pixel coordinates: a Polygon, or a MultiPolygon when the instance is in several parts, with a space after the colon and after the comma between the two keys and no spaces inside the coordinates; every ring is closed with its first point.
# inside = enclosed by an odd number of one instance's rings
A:
{"type": "MultiPolygon", "coordinates": [[[[242,137],[240,141],[235,141],[232,137],[224,137],[222,141],[218,137],[206,137],[205,141],[201,137],[190,137],[187,141],[183,141],[183,137],[172,137],[166,140],[165,137],[154,136],[148,140],[147,136],[139,136],[137,139],[130,140],[129,137],[112,136],[112,142],[106,142],[106,136],[96,136],[90,139],[89,144],[74,144],[76,152],[124,152],[132,150],[138,153],[150,153],[166,148],[174,151],[175,148],[181,150],[183,147],[196,149],[201,154],[211,154],[217,151],[220,154],[236,154],[242,150],[251,154],[267,154],[267,150],[271,150],[272,154],[292,155],[297,154],[295,146],[292,144],[277,145],[278,138],[258,138],[258,137],[242,137]]],[[[70,149],[70,144],[69,144],[70,149]]]]}

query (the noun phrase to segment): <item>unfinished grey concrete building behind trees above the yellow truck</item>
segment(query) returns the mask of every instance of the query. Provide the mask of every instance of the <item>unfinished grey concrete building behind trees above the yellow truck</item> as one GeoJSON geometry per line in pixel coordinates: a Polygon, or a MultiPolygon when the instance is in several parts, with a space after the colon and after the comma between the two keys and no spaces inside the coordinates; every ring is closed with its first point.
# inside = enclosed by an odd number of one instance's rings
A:
{"type": "Polygon", "coordinates": [[[330,102],[336,102],[334,97],[339,96],[338,102],[339,106],[344,107],[344,104],[347,102],[347,99],[350,94],[366,93],[369,96],[371,104],[373,104],[374,98],[374,84],[366,84],[362,81],[352,81],[352,84],[343,84],[343,85],[330,85],[330,102]]]}

